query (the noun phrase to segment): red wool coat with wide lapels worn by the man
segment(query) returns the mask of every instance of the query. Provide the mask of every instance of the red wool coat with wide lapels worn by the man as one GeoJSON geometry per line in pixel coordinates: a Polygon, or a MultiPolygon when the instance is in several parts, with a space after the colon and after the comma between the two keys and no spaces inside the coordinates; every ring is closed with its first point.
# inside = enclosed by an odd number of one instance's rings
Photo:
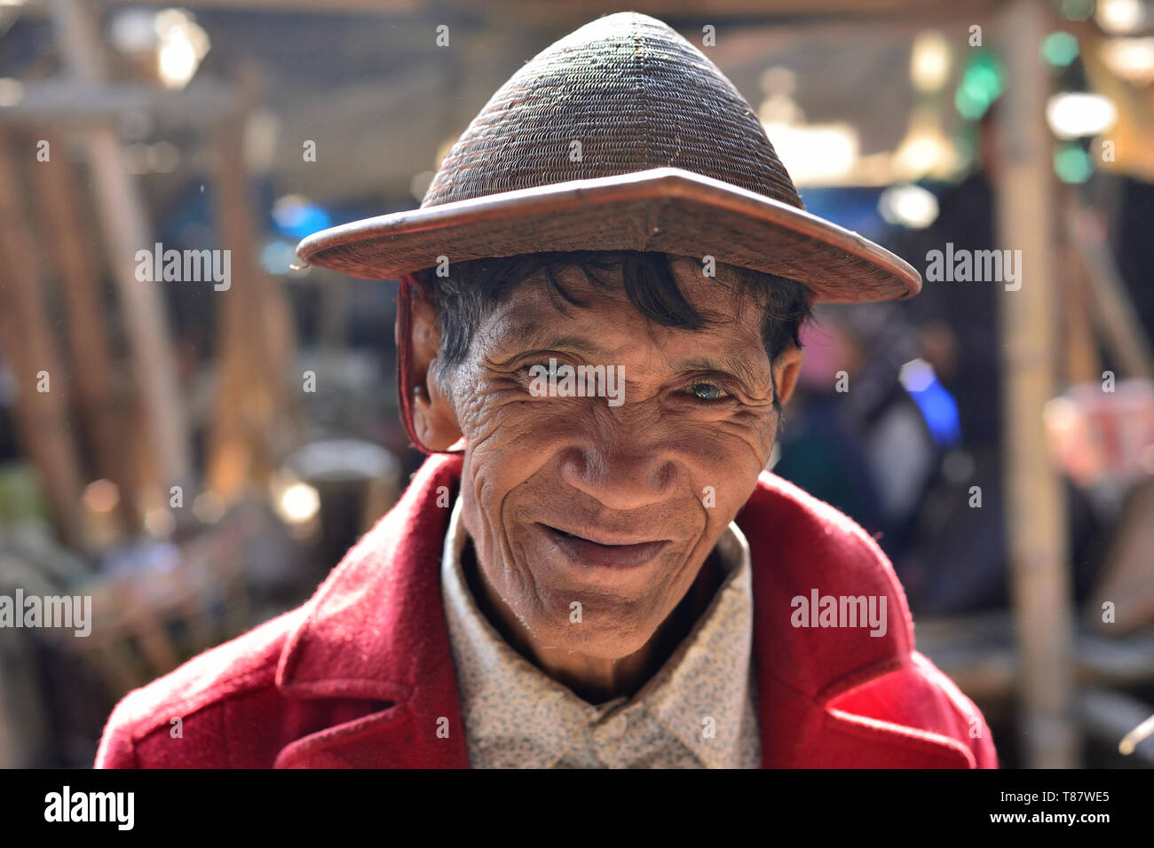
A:
{"type": "MultiPolygon", "coordinates": [[[[129,692],[96,765],[467,767],[441,603],[449,510],[436,505],[460,468],[430,457],[308,602],[129,692]]],[[[996,767],[981,713],[914,651],[872,539],[767,472],[737,524],[754,563],[765,767],[996,767]],[[793,626],[790,599],[814,588],[886,596],[886,633],[793,626]]]]}

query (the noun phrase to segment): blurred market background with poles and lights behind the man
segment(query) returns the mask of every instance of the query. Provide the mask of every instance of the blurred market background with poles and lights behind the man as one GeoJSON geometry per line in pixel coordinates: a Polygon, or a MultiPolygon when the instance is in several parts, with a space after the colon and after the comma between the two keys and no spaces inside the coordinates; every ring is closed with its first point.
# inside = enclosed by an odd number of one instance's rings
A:
{"type": "Polygon", "coordinates": [[[125,692],[389,509],[396,282],[293,249],[417,207],[510,74],[625,8],[927,277],[819,313],[774,472],[875,535],[1004,765],[1154,764],[1154,2],[0,0],[0,595],[92,598],[84,638],[0,628],[0,766],[91,765],[125,692]],[[149,282],[153,246],[231,282],[149,282]],[[988,249],[1017,283],[929,278],[988,249]]]}

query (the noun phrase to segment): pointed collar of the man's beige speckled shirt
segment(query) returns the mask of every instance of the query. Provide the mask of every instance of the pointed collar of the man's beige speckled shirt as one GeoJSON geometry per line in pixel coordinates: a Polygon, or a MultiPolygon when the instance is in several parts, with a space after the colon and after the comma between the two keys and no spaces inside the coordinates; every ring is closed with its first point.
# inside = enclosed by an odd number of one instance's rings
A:
{"type": "Polygon", "coordinates": [[[497,633],[464,577],[462,554],[467,541],[458,496],[445,533],[441,577],[465,741],[474,767],[550,767],[586,727],[610,712],[638,705],[702,765],[732,767],[737,761],[741,734],[750,731],[742,715],[754,690],[754,609],[749,543],[735,523],[726,527],[715,547],[726,576],[689,635],[632,698],[599,705],[550,678],[497,633]],[[727,661],[718,662],[719,656],[727,661]],[[699,685],[703,680],[710,685],[699,685]],[[703,734],[706,719],[713,719],[713,737],[703,734]]]}

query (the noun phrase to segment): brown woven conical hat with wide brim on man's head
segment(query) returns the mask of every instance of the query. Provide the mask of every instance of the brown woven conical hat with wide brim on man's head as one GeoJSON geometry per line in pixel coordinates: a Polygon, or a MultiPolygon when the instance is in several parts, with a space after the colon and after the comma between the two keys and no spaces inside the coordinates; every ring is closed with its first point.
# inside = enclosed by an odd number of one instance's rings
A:
{"type": "Polygon", "coordinates": [[[546,250],[751,268],[814,301],[908,298],[911,265],[810,215],[752,107],[667,24],[607,15],[526,62],[445,155],[419,209],[315,233],[298,257],[368,279],[546,250]]]}

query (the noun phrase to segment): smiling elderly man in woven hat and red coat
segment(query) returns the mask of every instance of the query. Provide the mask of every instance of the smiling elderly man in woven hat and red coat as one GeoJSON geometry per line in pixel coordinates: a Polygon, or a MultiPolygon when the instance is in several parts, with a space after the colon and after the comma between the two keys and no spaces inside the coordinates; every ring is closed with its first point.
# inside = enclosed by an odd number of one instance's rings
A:
{"type": "Polygon", "coordinates": [[[127,696],[98,765],[996,765],[874,540],[765,471],[811,305],[920,277],[804,212],[672,29],[563,38],[421,209],[298,253],[400,279],[432,456],[305,606],[127,696]]]}

